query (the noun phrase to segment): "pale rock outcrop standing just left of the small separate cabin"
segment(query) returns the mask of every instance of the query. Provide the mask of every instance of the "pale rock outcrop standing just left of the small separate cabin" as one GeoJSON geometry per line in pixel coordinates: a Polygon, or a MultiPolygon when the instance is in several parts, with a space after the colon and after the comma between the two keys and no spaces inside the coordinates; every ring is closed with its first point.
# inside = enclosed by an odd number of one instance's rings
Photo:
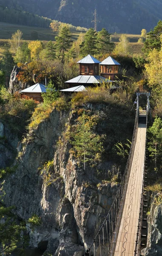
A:
{"type": "Polygon", "coordinates": [[[17,75],[19,72],[20,72],[20,68],[17,66],[14,66],[14,69],[12,70],[10,81],[9,81],[9,93],[15,93],[19,90],[23,90],[29,87],[27,83],[18,81],[17,75]]]}

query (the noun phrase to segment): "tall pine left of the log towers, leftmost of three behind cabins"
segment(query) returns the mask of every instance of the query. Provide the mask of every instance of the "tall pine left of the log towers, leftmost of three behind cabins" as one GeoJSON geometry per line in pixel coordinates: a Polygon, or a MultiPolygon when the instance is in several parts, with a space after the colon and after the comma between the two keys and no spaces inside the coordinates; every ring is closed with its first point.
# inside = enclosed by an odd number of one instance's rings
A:
{"type": "Polygon", "coordinates": [[[61,26],[59,29],[58,36],[55,36],[56,50],[58,58],[64,62],[65,52],[68,51],[71,45],[71,33],[67,26],[61,26]]]}

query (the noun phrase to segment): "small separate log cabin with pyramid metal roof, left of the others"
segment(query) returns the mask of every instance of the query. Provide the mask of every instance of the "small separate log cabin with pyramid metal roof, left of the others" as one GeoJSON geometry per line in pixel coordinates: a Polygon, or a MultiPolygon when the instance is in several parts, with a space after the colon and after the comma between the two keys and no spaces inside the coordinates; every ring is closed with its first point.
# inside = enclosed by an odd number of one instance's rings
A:
{"type": "Polygon", "coordinates": [[[39,104],[43,102],[41,93],[46,93],[46,87],[43,84],[34,84],[20,92],[21,99],[33,99],[35,103],[39,104]]]}

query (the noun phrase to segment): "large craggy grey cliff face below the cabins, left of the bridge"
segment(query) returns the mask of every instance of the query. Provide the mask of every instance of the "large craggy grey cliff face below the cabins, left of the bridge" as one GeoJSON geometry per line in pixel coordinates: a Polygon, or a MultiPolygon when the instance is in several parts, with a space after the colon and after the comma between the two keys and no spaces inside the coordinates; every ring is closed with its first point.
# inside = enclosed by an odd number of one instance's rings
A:
{"type": "Polygon", "coordinates": [[[93,170],[84,172],[61,140],[72,114],[54,110],[29,134],[17,171],[6,177],[6,206],[27,220],[33,214],[42,224],[28,228],[30,247],[47,246],[52,256],[82,256],[108,211],[118,185],[99,182],[93,170]],[[46,169],[46,162],[53,165],[46,169]],[[49,162],[48,162],[49,163],[49,162]],[[48,245],[47,245],[48,244],[48,245]]]}

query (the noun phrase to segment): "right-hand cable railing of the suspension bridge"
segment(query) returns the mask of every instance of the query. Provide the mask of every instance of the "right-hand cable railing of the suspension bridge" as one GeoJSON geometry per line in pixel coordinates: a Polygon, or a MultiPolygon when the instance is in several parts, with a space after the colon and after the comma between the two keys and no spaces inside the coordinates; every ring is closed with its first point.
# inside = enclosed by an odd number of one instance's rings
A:
{"type": "MultiPolygon", "coordinates": [[[[146,128],[148,125],[148,111],[149,111],[149,102],[146,108],[146,128]]],[[[144,195],[144,184],[145,184],[146,143],[147,143],[147,136],[145,141],[145,160],[144,160],[144,172],[143,172],[143,180],[142,180],[142,193],[141,193],[139,223],[138,223],[138,230],[137,230],[137,236],[136,236],[136,247],[134,251],[134,256],[140,256],[140,247],[141,247],[141,230],[142,230],[142,216],[143,216],[143,202],[144,202],[143,195],[144,195]]]]}

